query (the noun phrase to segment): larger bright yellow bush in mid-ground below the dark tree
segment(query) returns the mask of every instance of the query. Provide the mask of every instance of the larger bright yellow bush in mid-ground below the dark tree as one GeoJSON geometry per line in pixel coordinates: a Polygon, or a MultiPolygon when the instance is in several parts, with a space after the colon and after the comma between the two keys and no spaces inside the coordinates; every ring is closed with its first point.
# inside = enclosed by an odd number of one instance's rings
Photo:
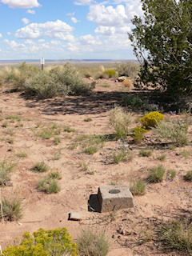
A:
{"type": "Polygon", "coordinates": [[[144,118],[139,119],[139,122],[141,122],[142,126],[145,126],[146,129],[150,129],[151,127],[157,126],[157,124],[163,119],[163,114],[159,113],[158,111],[153,111],[149,114],[145,114],[144,118]]]}

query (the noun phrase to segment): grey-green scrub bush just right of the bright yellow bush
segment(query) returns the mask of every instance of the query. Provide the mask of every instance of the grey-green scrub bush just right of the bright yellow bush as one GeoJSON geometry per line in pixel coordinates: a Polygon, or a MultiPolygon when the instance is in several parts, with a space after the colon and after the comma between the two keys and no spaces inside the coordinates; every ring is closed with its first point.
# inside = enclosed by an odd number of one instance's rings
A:
{"type": "Polygon", "coordinates": [[[189,125],[187,122],[179,120],[178,122],[170,121],[169,124],[158,122],[153,130],[160,138],[169,140],[175,146],[184,146],[189,142],[188,128],[189,125]]]}

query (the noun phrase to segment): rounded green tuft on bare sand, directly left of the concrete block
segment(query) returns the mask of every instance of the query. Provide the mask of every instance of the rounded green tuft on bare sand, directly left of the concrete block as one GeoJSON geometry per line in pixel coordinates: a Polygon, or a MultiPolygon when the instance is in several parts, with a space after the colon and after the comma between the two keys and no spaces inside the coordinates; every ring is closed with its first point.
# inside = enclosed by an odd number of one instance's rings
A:
{"type": "Polygon", "coordinates": [[[61,190],[61,187],[58,185],[58,181],[53,177],[42,178],[38,182],[37,188],[47,194],[58,193],[61,190]]]}

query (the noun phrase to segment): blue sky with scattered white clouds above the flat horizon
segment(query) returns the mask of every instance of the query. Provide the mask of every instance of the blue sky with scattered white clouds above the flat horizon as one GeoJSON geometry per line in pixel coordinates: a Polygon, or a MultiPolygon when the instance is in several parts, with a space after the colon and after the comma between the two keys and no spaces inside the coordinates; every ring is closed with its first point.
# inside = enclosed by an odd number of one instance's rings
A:
{"type": "Polygon", "coordinates": [[[140,0],[0,0],[0,60],[135,58],[140,0]]]}

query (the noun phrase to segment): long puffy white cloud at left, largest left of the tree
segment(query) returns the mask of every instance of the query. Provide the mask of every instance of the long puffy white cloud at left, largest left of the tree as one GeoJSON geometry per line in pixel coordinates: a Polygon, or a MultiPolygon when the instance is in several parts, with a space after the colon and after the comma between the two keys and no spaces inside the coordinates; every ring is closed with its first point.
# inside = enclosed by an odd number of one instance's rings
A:
{"type": "Polygon", "coordinates": [[[56,22],[31,23],[17,30],[14,36],[24,39],[58,38],[71,42],[74,40],[73,30],[74,28],[66,22],[57,20],[56,22]]]}

